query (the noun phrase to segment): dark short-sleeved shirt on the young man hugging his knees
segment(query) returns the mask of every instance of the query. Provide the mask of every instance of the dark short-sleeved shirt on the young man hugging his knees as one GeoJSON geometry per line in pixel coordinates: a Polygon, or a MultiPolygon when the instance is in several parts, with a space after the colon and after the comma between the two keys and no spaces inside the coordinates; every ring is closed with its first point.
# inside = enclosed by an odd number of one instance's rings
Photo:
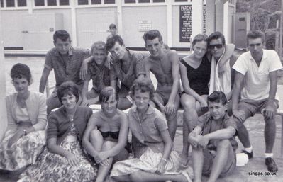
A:
{"type": "MultiPolygon", "coordinates": [[[[201,135],[207,135],[211,132],[215,132],[217,130],[225,129],[229,126],[235,128],[237,131],[237,124],[233,120],[232,117],[229,117],[228,114],[224,115],[223,120],[221,121],[215,121],[213,120],[211,113],[206,113],[204,115],[201,115],[198,119],[199,123],[197,126],[202,128],[202,134],[201,135]]],[[[235,136],[231,137],[230,139],[231,145],[235,151],[235,149],[238,148],[238,143],[235,140],[235,136]]],[[[208,147],[216,149],[217,147],[217,142],[219,140],[210,140],[208,147]]]]}

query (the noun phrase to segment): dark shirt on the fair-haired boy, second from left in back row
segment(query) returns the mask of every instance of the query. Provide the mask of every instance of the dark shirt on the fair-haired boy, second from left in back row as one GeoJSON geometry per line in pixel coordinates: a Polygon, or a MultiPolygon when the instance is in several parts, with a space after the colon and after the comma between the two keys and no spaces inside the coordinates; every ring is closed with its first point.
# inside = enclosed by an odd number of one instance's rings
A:
{"type": "Polygon", "coordinates": [[[95,60],[91,60],[87,67],[87,79],[92,80],[92,89],[100,93],[106,86],[110,86],[111,57],[106,57],[104,65],[99,67],[95,60]]]}

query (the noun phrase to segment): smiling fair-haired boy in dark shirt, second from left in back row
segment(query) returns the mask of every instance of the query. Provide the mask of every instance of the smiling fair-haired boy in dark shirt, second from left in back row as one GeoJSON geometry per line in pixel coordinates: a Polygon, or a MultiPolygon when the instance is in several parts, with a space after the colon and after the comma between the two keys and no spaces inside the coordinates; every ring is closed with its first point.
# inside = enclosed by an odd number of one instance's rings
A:
{"type": "Polygon", "coordinates": [[[94,42],[91,46],[91,55],[87,68],[87,79],[84,80],[82,87],[82,106],[97,103],[100,91],[111,85],[111,58],[108,56],[105,43],[102,41],[94,42]],[[91,79],[92,89],[88,91],[91,79]]]}

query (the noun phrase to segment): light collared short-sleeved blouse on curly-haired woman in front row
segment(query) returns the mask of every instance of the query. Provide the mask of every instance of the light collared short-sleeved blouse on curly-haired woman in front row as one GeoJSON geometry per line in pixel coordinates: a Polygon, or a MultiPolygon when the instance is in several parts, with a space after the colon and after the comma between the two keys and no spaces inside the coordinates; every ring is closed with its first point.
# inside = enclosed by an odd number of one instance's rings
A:
{"type": "Polygon", "coordinates": [[[163,152],[164,142],[160,132],[167,130],[168,126],[165,116],[159,110],[149,106],[143,118],[139,118],[137,108],[133,106],[128,112],[128,123],[138,142],[163,152]]]}

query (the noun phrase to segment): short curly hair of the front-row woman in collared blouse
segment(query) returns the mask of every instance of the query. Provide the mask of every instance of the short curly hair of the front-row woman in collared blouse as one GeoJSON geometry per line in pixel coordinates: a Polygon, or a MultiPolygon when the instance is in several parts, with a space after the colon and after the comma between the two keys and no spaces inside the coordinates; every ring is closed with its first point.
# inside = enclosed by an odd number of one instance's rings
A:
{"type": "Polygon", "coordinates": [[[150,79],[147,78],[136,79],[135,81],[133,81],[133,85],[131,86],[129,92],[132,98],[135,96],[135,91],[140,91],[142,93],[149,92],[151,100],[154,97],[154,86],[152,85],[150,79]]]}

